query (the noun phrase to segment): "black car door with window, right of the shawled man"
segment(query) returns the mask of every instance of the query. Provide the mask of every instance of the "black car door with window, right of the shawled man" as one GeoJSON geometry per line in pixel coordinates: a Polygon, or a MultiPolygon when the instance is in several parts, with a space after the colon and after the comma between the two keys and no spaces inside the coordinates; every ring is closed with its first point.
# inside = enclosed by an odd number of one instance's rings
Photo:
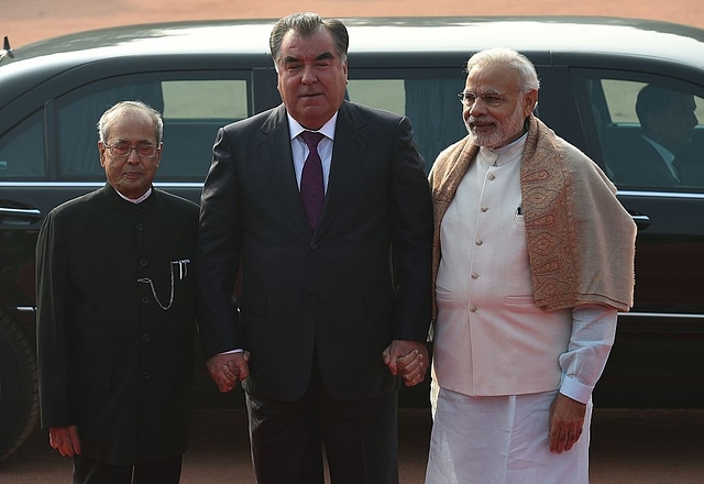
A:
{"type": "Polygon", "coordinates": [[[638,226],[635,304],[619,315],[596,398],[619,406],[698,406],[704,397],[704,73],[681,78],[675,69],[651,62],[622,69],[572,68],[570,74],[588,154],[616,183],[619,200],[638,226]],[[642,112],[646,97],[639,101],[646,86],[658,92],[650,105],[670,91],[688,99],[683,122],[668,119],[664,105],[651,114],[660,131],[676,124],[688,131],[683,147],[644,138],[652,131],[642,112]],[[658,165],[651,164],[652,154],[658,165]],[[671,180],[676,172],[668,164],[672,157],[686,158],[686,173],[697,175],[671,180]]]}

